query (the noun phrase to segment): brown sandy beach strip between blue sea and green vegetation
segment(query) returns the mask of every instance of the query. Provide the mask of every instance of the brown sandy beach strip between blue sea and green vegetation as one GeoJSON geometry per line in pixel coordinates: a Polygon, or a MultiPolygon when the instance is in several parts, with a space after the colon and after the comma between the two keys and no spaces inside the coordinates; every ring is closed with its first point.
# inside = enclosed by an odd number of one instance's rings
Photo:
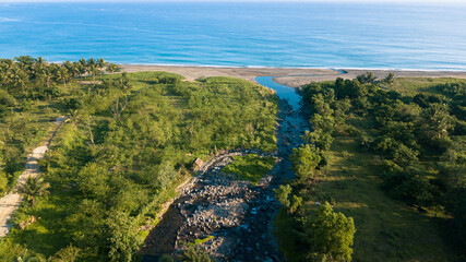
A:
{"type": "MultiPolygon", "coordinates": [[[[299,68],[228,68],[228,67],[177,67],[177,66],[144,66],[144,64],[121,64],[122,71],[166,71],[181,74],[189,81],[208,76],[234,76],[254,82],[254,78],[264,75],[275,75],[275,81],[298,87],[310,82],[335,80],[336,78],[354,79],[356,75],[369,70],[343,69],[347,73],[342,74],[331,69],[299,69],[299,68]]],[[[389,72],[394,72],[399,78],[458,78],[466,79],[465,72],[450,71],[391,71],[370,70],[377,76],[383,78],[389,72]]]]}

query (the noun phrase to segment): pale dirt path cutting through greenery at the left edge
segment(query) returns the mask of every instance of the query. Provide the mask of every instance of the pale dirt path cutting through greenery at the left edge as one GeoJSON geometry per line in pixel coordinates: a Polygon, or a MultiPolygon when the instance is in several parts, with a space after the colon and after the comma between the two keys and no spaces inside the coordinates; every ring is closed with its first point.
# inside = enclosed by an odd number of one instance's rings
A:
{"type": "MultiPolygon", "coordinates": [[[[33,153],[27,156],[26,168],[20,178],[17,178],[17,184],[26,181],[28,177],[36,177],[40,174],[37,160],[45,156],[55,133],[65,119],[65,117],[57,118],[53,122],[53,127],[49,130],[49,133],[40,146],[36,147],[33,153]]],[[[23,200],[23,198],[16,193],[16,188],[17,186],[13,188],[10,193],[0,199],[0,237],[7,236],[10,231],[11,225],[8,224],[8,221],[11,219],[13,212],[20,206],[23,200]]]]}

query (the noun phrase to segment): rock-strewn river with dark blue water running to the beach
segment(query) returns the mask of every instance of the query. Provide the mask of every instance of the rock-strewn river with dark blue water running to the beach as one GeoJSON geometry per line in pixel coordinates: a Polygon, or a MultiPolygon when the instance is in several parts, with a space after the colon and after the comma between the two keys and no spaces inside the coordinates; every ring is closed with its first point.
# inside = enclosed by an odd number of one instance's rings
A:
{"type": "Polygon", "coordinates": [[[279,98],[277,152],[234,151],[207,163],[147,236],[141,249],[143,261],[179,254],[186,242],[206,238],[210,240],[202,246],[216,261],[284,261],[273,235],[272,222],[279,209],[273,189],[294,178],[289,156],[302,143],[309,123],[295,88],[275,83],[273,76],[255,81],[275,90],[279,98]],[[251,153],[277,158],[256,186],[222,174],[231,156],[251,153]]]}

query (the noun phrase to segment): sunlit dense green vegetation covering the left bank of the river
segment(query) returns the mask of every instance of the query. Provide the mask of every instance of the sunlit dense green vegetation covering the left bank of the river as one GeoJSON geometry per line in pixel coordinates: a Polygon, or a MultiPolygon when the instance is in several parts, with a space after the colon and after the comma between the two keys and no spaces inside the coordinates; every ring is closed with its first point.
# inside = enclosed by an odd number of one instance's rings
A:
{"type": "Polygon", "coordinates": [[[207,160],[217,148],[276,148],[277,99],[247,81],[186,82],[165,72],[104,74],[113,72],[113,66],[96,59],[58,66],[21,57],[1,64],[0,72],[10,74],[15,68],[26,75],[3,81],[0,87],[0,99],[10,102],[1,104],[0,130],[10,135],[0,143],[1,174],[8,175],[8,182],[17,171],[10,167],[24,162],[8,159],[7,151],[24,155],[33,143],[26,140],[27,121],[16,119],[35,114],[41,119],[43,114],[47,128],[51,116],[67,115],[69,120],[40,162],[50,193],[15,213],[13,228],[0,241],[0,261],[21,255],[136,260],[147,235],[143,228],[157,222],[160,204],[190,176],[193,159],[207,160]],[[17,226],[33,216],[37,221],[24,229],[17,226]]]}

